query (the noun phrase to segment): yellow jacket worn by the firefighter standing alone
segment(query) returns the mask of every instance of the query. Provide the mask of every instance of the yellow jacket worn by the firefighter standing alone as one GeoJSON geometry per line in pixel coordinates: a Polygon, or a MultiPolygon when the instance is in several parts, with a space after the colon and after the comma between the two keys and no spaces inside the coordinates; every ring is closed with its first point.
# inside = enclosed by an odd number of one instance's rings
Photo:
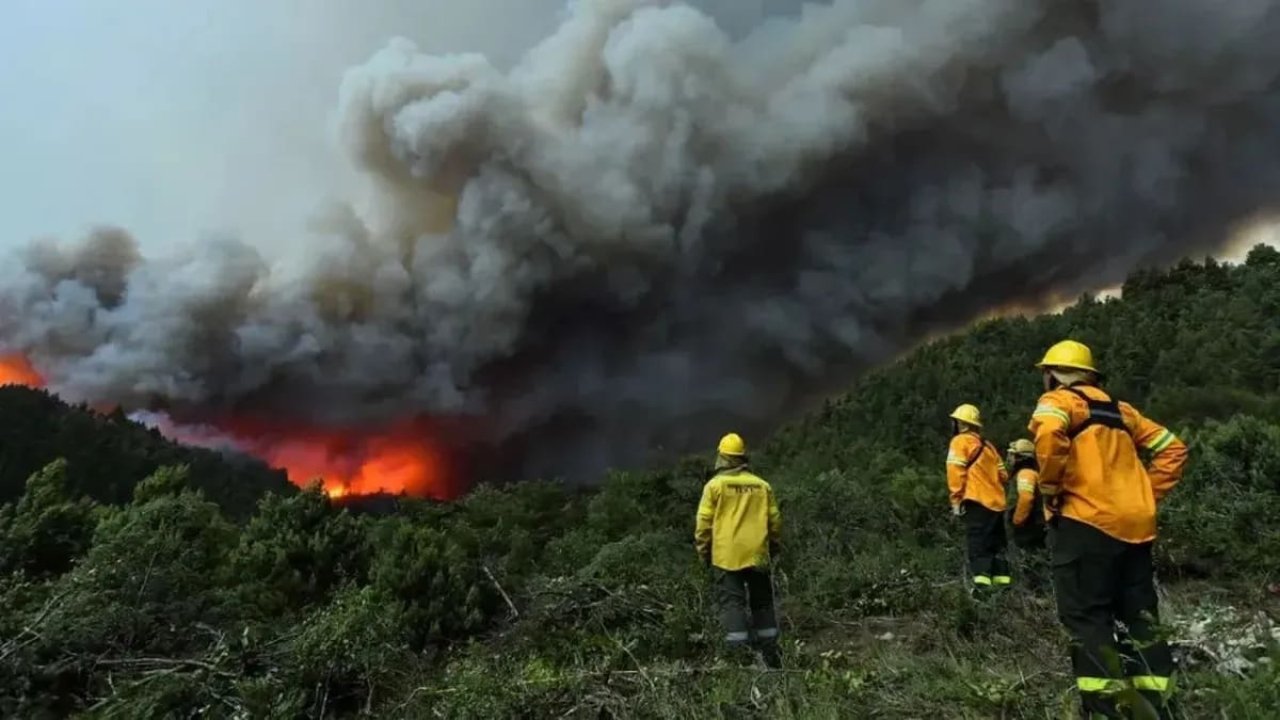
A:
{"type": "Polygon", "coordinates": [[[769,483],[746,468],[721,470],[703,486],[694,543],[722,570],[767,568],[781,539],[782,514],[769,483]]]}

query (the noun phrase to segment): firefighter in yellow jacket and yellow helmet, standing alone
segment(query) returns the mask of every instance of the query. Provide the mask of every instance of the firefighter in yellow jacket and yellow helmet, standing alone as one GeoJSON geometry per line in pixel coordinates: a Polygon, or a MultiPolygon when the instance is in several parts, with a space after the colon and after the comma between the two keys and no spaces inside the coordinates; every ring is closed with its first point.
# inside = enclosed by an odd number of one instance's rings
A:
{"type": "Polygon", "coordinates": [[[724,436],[716,474],[703,487],[694,543],[714,574],[724,639],[731,647],[746,646],[754,632],[755,646],[769,667],[782,666],[769,568],[781,530],[773,488],[748,469],[742,438],[736,433],[724,436]]]}

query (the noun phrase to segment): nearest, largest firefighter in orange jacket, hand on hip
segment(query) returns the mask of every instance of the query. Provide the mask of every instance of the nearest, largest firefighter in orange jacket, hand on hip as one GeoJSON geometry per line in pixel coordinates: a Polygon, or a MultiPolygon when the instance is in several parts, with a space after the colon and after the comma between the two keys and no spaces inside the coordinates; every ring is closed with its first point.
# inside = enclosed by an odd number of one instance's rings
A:
{"type": "Polygon", "coordinates": [[[1029,428],[1039,489],[1052,511],[1053,591],[1071,634],[1082,710],[1120,717],[1117,706],[1137,694],[1160,717],[1171,717],[1174,661],[1153,628],[1151,550],[1156,503],[1180,479],[1187,446],[1098,387],[1087,346],[1062,341],[1037,368],[1046,392],[1029,428]],[[1148,466],[1139,448],[1151,454],[1148,466]],[[1119,643],[1117,620],[1126,630],[1119,643]]]}

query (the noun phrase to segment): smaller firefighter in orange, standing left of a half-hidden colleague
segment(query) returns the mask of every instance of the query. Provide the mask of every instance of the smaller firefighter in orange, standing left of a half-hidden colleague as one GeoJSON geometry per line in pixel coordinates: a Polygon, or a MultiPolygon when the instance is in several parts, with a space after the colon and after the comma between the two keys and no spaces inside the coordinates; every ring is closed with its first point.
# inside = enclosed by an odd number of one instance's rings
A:
{"type": "Polygon", "coordinates": [[[951,512],[965,519],[969,577],[974,589],[1012,582],[1005,557],[1005,483],[1009,473],[1000,451],[982,437],[982,414],[973,405],[951,413],[947,487],[951,512]]]}

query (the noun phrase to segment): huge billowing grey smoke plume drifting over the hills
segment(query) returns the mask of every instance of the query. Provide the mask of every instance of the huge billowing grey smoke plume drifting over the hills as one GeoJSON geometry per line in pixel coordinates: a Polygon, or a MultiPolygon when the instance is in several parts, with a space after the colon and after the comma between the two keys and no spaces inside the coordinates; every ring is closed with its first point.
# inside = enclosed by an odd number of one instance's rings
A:
{"type": "Polygon", "coordinates": [[[342,85],[367,193],[306,266],[41,245],[0,342],[74,398],[477,418],[507,469],[590,478],[1276,210],[1276,37],[1280,0],[836,0],[741,36],[582,0],[509,72],[393,41],[342,85]]]}

